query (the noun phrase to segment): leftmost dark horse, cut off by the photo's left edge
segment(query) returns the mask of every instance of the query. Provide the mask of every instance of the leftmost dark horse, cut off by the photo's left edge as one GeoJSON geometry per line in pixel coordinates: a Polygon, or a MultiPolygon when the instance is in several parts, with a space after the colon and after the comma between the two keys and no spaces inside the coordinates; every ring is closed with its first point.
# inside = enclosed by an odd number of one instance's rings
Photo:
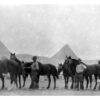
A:
{"type": "Polygon", "coordinates": [[[2,81],[2,89],[4,89],[5,87],[3,74],[7,74],[7,73],[10,74],[11,84],[14,81],[16,84],[16,87],[18,87],[18,84],[17,84],[18,71],[19,71],[19,66],[18,66],[18,63],[16,63],[15,61],[7,59],[7,58],[0,60],[0,78],[2,81]]]}

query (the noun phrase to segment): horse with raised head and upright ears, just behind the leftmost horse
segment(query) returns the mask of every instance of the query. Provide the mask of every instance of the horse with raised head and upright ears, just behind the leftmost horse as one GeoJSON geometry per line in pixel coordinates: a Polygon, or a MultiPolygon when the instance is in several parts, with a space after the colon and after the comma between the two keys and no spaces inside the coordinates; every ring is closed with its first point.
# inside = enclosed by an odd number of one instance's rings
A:
{"type": "Polygon", "coordinates": [[[10,54],[10,59],[18,64],[19,71],[17,77],[19,78],[19,88],[21,88],[21,75],[23,75],[22,62],[16,57],[15,53],[10,54]]]}

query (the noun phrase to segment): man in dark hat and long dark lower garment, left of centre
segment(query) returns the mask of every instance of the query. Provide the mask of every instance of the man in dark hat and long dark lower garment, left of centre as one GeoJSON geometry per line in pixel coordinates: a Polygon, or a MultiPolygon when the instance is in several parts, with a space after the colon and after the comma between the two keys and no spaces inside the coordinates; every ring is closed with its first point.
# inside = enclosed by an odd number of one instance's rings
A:
{"type": "Polygon", "coordinates": [[[37,62],[37,56],[33,56],[32,58],[33,64],[31,65],[31,85],[30,88],[36,89],[39,88],[38,86],[38,70],[39,70],[39,65],[37,62]]]}

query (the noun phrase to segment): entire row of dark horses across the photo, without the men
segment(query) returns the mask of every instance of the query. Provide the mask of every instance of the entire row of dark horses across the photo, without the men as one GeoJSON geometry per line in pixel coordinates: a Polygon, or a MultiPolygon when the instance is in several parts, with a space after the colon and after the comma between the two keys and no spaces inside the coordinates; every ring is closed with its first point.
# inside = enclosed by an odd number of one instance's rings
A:
{"type": "MultiPolygon", "coordinates": [[[[63,64],[58,65],[58,69],[56,66],[52,64],[42,64],[41,62],[38,62],[39,65],[39,70],[38,70],[38,75],[37,79],[39,82],[40,76],[46,75],[48,78],[48,86],[47,89],[50,88],[51,84],[51,75],[53,76],[54,80],[54,89],[56,88],[56,79],[59,79],[59,74],[62,71],[64,80],[65,80],[65,88],[68,88],[68,83],[69,83],[69,77],[72,79],[72,84],[71,84],[71,89],[75,88],[75,73],[76,73],[76,66],[79,64],[79,60],[77,59],[72,59],[71,62],[68,62],[69,57],[67,58],[67,62],[65,61],[63,64]]],[[[33,62],[23,62],[20,61],[15,53],[10,54],[10,59],[2,59],[0,60],[0,78],[2,80],[2,89],[5,87],[5,81],[4,81],[4,76],[3,74],[10,74],[10,83],[11,84],[16,84],[17,88],[22,88],[25,86],[26,79],[28,75],[31,77],[31,65],[33,62]],[[23,78],[23,85],[21,84],[21,76],[23,78]]],[[[90,88],[92,88],[92,81],[93,81],[93,75],[95,78],[95,86],[94,90],[97,87],[97,80],[100,79],[100,62],[98,64],[93,64],[93,65],[87,65],[81,61],[82,64],[84,64],[87,69],[84,70],[84,79],[86,80],[86,88],[88,88],[88,85],[90,83],[90,88]]],[[[99,85],[100,89],[100,85],[99,85]]]]}

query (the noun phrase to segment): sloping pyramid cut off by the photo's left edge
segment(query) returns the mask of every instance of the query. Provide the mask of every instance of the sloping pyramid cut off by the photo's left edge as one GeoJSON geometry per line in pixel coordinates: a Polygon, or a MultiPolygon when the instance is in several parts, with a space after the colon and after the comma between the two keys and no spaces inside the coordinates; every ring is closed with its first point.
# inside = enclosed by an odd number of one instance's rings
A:
{"type": "Polygon", "coordinates": [[[0,59],[9,57],[10,51],[8,48],[0,41],[0,59]]]}

